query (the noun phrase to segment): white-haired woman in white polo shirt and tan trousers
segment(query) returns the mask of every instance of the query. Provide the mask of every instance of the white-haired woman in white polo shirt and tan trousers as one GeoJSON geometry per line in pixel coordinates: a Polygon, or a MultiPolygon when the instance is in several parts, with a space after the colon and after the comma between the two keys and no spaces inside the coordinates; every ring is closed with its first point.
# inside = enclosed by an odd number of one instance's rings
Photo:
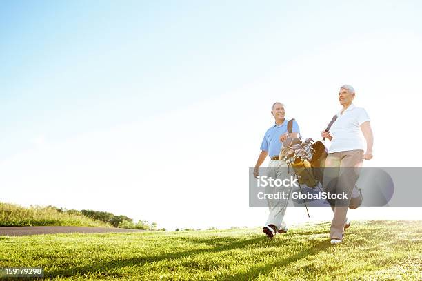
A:
{"type": "MultiPolygon", "coordinates": [[[[335,183],[336,193],[340,194],[341,191],[345,191],[351,195],[356,180],[359,178],[359,168],[362,166],[363,159],[370,160],[372,158],[374,137],[370,118],[363,108],[354,106],[352,103],[354,96],[355,92],[352,86],[341,86],[339,101],[343,105],[343,109],[337,114],[330,132],[323,131],[321,133],[321,136],[331,141],[325,160],[325,167],[328,169],[324,171],[324,191],[332,190],[330,183],[335,183]],[[361,138],[361,132],[365,138],[366,147],[361,138]],[[341,169],[348,167],[349,169],[341,169]],[[350,167],[357,169],[350,169],[350,167]],[[336,179],[335,182],[332,179],[336,179]]],[[[330,229],[332,244],[343,241],[343,231],[345,227],[348,227],[346,215],[349,201],[350,196],[348,196],[348,200],[330,202],[334,211],[330,229]]]]}

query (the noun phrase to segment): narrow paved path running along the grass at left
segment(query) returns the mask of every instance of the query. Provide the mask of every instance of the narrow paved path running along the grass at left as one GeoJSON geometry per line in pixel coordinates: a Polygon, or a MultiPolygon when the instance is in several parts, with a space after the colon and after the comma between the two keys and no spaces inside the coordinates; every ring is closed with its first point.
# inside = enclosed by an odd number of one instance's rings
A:
{"type": "Polygon", "coordinates": [[[119,229],[107,227],[0,227],[0,236],[23,236],[52,233],[110,233],[143,232],[141,229],[119,229]]]}

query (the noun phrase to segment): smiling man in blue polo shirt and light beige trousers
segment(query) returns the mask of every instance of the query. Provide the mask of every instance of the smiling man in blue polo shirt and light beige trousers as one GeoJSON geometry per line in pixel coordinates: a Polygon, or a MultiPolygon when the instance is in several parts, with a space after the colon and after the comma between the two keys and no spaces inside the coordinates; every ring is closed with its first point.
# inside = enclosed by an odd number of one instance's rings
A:
{"type": "MultiPolygon", "coordinates": [[[[288,178],[288,165],[279,159],[281,145],[283,141],[290,137],[297,138],[299,136],[299,125],[296,121],[292,122],[292,132],[288,132],[288,121],[285,120],[284,105],[283,103],[274,103],[271,110],[272,116],[274,116],[275,125],[270,127],[265,133],[261,143],[261,154],[259,154],[257,164],[254,169],[254,176],[259,176],[259,166],[262,165],[263,161],[267,156],[270,156],[270,163],[268,164],[266,176],[271,178],[288,178]]],[[[278,192],[285,192],[290,194],[291,187],[265,187],[266,194],[276,194],[278,192]]],[[[285,209],[288,205],[288,199],[267,199],[270,214],[268,220],[263,227],[263,232],[270,238],[274,237],[277,231],[279,233],[285,233],[288,231],[288,227],[283,222],[285,209]]]]}

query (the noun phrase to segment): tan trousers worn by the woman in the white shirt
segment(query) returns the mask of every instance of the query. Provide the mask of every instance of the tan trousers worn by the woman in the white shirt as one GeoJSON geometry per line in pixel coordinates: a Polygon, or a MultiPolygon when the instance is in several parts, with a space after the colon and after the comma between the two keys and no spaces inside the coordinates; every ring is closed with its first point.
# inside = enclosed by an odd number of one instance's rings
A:
{"type": "Polygon", "coordinates": [[[360,168],[363,163],[363,150],[349,150],[346,152],[330,153],[325,159],[325,169],[323,178],[323,190],[341,194],[346,192],[348,200],[329,201],[334,217],[331,222],[330,236],[343,240],[343,230],[348,214],[348,205],[352,189],[359,178],[360,168]],[[344,169],[349,168],[349,169],[344,169]],[[356,169],[350,169],[356,168],[356,169]],[[336,179],[336,185],[330,185],[330,182],[336,179]],[[337,206],[336,206],[337,203],[337,206]]]}

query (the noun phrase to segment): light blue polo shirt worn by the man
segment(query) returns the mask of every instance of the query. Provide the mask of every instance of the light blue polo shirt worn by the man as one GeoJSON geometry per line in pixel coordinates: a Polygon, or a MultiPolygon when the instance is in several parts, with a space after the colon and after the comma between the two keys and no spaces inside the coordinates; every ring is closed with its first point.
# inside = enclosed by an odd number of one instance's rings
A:
{"type": "MultiPolygon", "coordinates": [[[[281,149],[281,141],[280,136],[287,132],[287,123],[288,119],[284,119],[283,124],[270,127],[265,133],[265,136],[261,143],[261,150],[264,152],[268,152],[268,156],[279,156],[280,149],[281,149]]],[[[299,130],[299,125],[297,125],[296,120],[293,121],[292,124],[292,132],[293,133],[301,133],[299,130]]]]}

